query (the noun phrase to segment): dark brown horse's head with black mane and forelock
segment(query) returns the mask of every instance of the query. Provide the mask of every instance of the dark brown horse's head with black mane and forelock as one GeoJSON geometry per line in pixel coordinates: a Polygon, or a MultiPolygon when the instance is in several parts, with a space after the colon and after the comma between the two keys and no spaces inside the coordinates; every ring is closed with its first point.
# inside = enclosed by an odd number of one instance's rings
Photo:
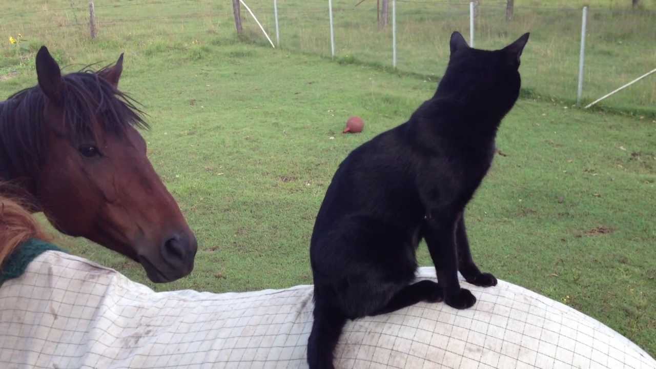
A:
{"type": "Polygon", "coordinates": [[[123,54],[62,76],[41,47],[36,70],[37,86],[0,102],[0,181],[60,232],[131,257],[153,282],[189,274],[196,239],[146,156],[142,112],[117,89],[123,54]]]}

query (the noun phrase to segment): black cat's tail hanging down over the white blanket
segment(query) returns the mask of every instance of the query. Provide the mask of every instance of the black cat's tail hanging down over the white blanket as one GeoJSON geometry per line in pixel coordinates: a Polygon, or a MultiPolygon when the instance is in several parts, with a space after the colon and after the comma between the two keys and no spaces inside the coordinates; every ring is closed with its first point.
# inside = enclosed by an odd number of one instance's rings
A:
{"type": "Polygon", "coordinates": [[[314,324],[308,339],[308,364],[310,369],[334,369],[333,351],[342,328],[346,324],[346,316],[329,303],[315,301],[314,324]]]}

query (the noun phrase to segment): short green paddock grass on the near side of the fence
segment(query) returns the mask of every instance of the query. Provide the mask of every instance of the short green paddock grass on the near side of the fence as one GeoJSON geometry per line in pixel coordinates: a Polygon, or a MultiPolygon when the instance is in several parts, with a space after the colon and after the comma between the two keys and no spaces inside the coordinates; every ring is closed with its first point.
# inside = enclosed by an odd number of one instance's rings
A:
{"type": "MultiPolygon", "coordinates": [[[[180,12],[191,9],[186,5],[180,12]]],[[[224,32],[230,24],[198,24],[188,33],[153,24],[152,37],[140,26],[105,30],[93,42],[77,31],[30,40],[30,47],[49,45],[63,64],[106,64],[126,52],[121,88],[150,114],[152,131],[144,132],[150,158],[200,246],[191,276],[154,286],[123,257],[84,240],[62,243],[155,290],[310,284],[312,225],[338,163],[430,97],[436,81],[422,75],[439,76],[445,56],[426,53],[430,68],[422,74],[396,74],[272,51],[224,32]],[[342,135],[353,114],[365,119],[365,131],[342,135]]],[[[522,62],[524,85],[539,89],[548,81],[531,79],[527,71],[538,62],[531,52],[522,62]]],[[[1,53],[0,96],[35,83],[33,49],[14,55],[3,46],[1,53]]],[[[584,112],[556,98],[522,98],[502,123],[502,154],[467,210],[472,252],[482,269],[597,318],[653,356],[655,138],[656,118],[648,115],[584,112]]],[[[424,247],[419,257],[430,265],[424,247]]]]}

